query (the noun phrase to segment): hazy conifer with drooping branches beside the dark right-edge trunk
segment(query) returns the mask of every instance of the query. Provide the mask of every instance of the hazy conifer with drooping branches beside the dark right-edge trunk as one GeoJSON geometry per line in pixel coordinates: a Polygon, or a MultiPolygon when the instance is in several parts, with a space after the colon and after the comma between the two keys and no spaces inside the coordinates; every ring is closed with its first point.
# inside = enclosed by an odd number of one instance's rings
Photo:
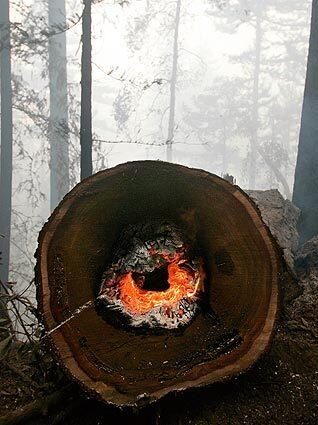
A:
{"type": "MultiPolygon", "coordinates": [[[[213,13],[220,19],[218,26],[221,31],[224,31],[225,27],[233,33],[244,25],[254,34],[252,49],[232,56],[233,62],[245,68],[244,73],[247,71],[246,78],[250,82],[250,93],[246,94],[249,99],[249,107],[246,110],[246,117],[249,118],[246,127],[249,151],[244,164],[247,186],[255,189],[262,184],[265,177],[262,175],[263,162],[268,170],[266,174],[271,176],[268,183],[278,184],[285,195],[290,197],[288,180],[293,173],[292,161],[289,158],[291,149],[284,147],[290,146],[288,138],[295,137],[298,129],[297,113],[296,119],[291,119],[288,115],[291,103],[288,86],[292,81],[296,93],[302,86],[302,52],[306,45],[306,23],[303,18],[305,14],[302,13],[304,2],[229,0],[211,1],[211,5],[208,13],[213,13]],[[291,19],[291,13],[297,14],[297,24],[291,19]],[[273,34],[277,37],[273,38],[273,34]],[[281,114],[280,122],[275,122],[275,129],[280,128],[281,132],[273,137],[270,117],[275,114],[277,105],[284,113],[281,114]],[[289,135],[280,125],[285,117],[289,120],[286,128],[292,133],[289,135]]],[[[218,23],[218,20],[216,22],[218,23]]]]}

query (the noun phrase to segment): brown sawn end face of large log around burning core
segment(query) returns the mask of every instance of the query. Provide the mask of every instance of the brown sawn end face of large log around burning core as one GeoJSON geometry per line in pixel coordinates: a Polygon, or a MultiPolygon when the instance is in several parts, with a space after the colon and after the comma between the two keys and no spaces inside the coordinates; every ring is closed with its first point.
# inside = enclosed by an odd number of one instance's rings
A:
{"type": "Polygon", "coordinates": [[[221,381],[268,348],[285,270],[260,213],[237,186],[202,170],[140,161],[77,185],[39,237],[37,298],[61,366],[117,406],[221,381]],[[199,247],[205,301],[182,329],[116,326],[100,314],[102,276],[123,230],[169,220],[199,247]]]}

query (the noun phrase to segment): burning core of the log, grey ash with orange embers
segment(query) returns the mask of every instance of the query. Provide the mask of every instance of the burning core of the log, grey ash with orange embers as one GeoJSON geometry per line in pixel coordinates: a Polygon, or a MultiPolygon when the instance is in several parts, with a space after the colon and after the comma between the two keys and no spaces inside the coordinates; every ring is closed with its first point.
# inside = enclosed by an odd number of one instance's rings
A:
{"type": "Polygon", "coordinates": [[[174,225],[130,227],[115,258],[103,275],[99,299],[131,326],[178,328],[198,312],[203,261],[174,225]]]}

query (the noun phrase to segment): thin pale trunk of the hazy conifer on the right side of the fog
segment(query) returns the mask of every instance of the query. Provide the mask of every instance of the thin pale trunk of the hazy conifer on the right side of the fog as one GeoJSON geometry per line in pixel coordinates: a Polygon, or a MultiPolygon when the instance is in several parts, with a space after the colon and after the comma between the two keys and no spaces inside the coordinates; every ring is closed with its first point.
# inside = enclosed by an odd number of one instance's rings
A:
{"type": "Polygon", "coordinates": [[[261,62],[262,44],[262,2],[256,2],[256,34],[255,34],[255,66],[253,77],[253,100],[252,100],[252,122],[251,122],[251,155],[249,164],[249,189],[255,189],[258,151],[258,109],[259,109],[259,74],[261,62]]]}

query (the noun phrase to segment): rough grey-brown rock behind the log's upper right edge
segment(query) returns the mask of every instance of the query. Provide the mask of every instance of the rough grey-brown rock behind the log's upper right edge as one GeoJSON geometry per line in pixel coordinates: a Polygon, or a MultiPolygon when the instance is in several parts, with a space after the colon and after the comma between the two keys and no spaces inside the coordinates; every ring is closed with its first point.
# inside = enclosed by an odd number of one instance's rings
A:
{"type": "Polygon", "coordinates": [[[283,248],[285,260],[293,270],[294,253],[299,239],[296,226],[300,210],[288,199],[284,199],[277,189],[246,192],[258,206],[263,221],[283,248]]]}

